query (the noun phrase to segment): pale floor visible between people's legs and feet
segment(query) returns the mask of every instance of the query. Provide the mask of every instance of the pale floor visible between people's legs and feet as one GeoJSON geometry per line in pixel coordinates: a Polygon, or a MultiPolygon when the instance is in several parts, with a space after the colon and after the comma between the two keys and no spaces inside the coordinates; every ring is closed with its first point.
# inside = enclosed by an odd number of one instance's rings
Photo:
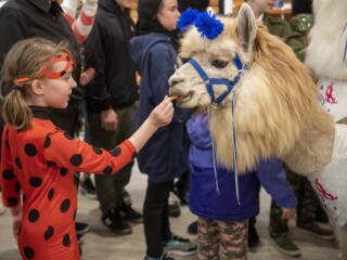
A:
{"type": "MultiPolygon", "coordinates": [[[[144,190],[146,186],[146,177],[133,169],[131,182],[127,190],[131,194],[133,207],[141,210],[144,190]]],[[[91,200],[79,195],[79,209],[77,219],[88,222],[90,231],[85,236],[82,260],[139,260],[142,259],[145,251],[143,226],[142,224],[133,225],[133,233],[127,236],[116,236],[108,232],[100,221],[100,211],[98,202],[91,200]]],[[[257,227],[261,239],[261,245],[255,252],[248,253],[249,260],[282,260],[292,259],[281,255],[269,240],[268,212],[269,196],[261,192],[261,212],[257,219],[257,227]]],[[[171,219],[171,230],[179,234],[187,234],[187,226],[195,217],[189,211],[188,207],[182,207],[180,218],[171,219]]],[[[294,221],[291,223],[291,237],[301,248],[305,260],[335,260],[337,259],[336,242],[321,240],[314,236],[299,234],[294,227],[294,221]]],[[[195,238],[194,236],[189,236],[195,238]]],[[[0,260],[20,260],[16,245],[11,236],[11,218],[9,210],[5,214],[0,216],[0,260]]],[[[179,259],[179,258],[176,258],[179,259]]],[[[187,257],[181,259],[195,259],[187,257]]],[[[63,260],[63,259],[62,259],[63,260]]]]}

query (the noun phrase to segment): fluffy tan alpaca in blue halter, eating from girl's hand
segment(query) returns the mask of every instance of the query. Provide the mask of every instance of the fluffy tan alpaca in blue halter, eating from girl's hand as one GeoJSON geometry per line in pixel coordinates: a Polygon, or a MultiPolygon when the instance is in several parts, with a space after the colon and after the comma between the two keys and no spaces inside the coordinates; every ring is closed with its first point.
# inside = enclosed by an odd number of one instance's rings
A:
{"type": "MultiPolygon", "coordinates": [[[[235,136],[240,174],[277,156],[308,177],[331,222],[344,226],[340,248],[346,247],[347,180],[339,176],[326,184],[326,179],[332,180],[327,174],[336,168],[347,167],[347,126],[335,125],[324,112],[308,68],[290,47],[256,23],[248,4],[242,5],[237,20],[220,21],[224,28],[214,40],[203,38],[196,27],[185,34],[180,55],[192,60],[169,79],[170,93],[179,96],[181,107],[208,112],[217,160],[227,168],[233,168],[235,136]],[[216,78],[236,82],[220,103],[211,102],[207,87],[216,78]]],[[[213,86],[216,99],[226,90],[226,84],[213,86]]]]}

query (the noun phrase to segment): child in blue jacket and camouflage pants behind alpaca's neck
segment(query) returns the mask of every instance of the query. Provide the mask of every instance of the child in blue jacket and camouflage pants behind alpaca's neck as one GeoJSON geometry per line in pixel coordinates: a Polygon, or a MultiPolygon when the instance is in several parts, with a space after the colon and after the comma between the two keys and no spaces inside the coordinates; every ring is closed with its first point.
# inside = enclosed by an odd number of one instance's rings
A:
{"type": "Polygon", "coordinates": [[[198,217],[198,259],[246,259],[248,219],[259,212],[261,185],[282,208],[282,218],[296,214],[297,200],[282,162],[273,157],[260,161],[255,170],[239,176],[235,184],[232,170],[221,165],[214,168],[207,115],[193,115],[187,131],[191,139],[189,206],[198,217]]]}

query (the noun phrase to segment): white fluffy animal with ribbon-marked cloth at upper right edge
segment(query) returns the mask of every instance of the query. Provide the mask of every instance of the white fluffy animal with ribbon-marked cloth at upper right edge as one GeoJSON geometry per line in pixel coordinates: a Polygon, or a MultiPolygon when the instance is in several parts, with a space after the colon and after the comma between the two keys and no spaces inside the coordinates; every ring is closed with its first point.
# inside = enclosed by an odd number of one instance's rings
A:
{"type": "Polygon", "coordinates": [[[347,1],[313,0],[313,13],[305,63],[318,78],[321,105],[339,121],[347,117],[347,1]]]}

